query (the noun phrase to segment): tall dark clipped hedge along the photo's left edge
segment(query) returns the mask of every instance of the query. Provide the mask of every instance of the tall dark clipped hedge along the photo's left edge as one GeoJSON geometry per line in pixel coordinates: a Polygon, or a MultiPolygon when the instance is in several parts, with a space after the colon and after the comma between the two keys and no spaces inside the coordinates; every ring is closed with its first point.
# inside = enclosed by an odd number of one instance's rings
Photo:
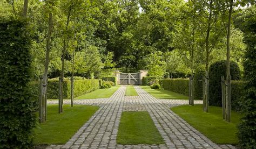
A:
{"type": "Polygon", "coordinates": [[[31,38],[21,19],[0,19],[0,148],[30,148],[36,107],[28,88],[31,38]]]}

